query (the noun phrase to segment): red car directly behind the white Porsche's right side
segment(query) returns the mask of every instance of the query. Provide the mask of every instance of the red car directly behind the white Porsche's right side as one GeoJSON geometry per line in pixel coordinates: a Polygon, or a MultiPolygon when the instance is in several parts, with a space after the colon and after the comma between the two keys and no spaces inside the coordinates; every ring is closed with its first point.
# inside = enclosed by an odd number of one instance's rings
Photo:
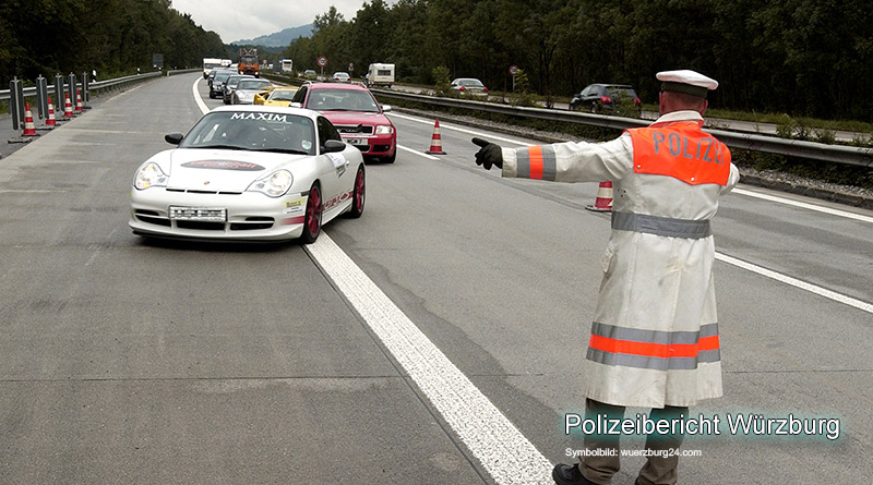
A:
{"type": "Polygon", "coordinates": [[[367,158],[394,163],[397,158],[397,130],[385,116],[390,106],[380,106],[373,94],[359,84],[308,83],[297,89],[291,106],[323,113],[343,140],[367,158]]]}

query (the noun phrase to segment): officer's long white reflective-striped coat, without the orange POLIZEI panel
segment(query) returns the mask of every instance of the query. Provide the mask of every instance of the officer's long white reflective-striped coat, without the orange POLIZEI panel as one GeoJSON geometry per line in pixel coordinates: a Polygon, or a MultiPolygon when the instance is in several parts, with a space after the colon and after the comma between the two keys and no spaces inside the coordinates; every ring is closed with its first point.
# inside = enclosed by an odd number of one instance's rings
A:
{"type": "MultiPolygon", "coordinates": [[[[677,111],[655,123],[681,121],[702,124],[703,118],[677,111]]],[[[503,148],[503,177],[613,182],[613,229],[583,369],[585,396],[648,408],[720,397],[715,244],[708,220],[718,209],[718,197],[740,179],[737,167],[730,163],[726,185],[636,173],[626,132],[606,143],[535,149],[542,150],[546,167],[535,168],[531,177],[528,148],[503,148]],[[658,230],[648,231],[647,225],[658,230]],[[703,235],[685,234],[702,227],[703,235]]]]}

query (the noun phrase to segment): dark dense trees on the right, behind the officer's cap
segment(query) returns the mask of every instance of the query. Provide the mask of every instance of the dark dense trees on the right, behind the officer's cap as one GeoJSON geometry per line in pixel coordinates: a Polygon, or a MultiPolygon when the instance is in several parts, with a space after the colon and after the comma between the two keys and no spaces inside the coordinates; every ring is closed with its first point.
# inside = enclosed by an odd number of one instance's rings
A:
{"type": "Polygon", "coordinates": [[[492,90],[517,65],[540,95],[627,83],[645,102],[656,72],[693,69],[719,81],[714,107],[873,121],[871,21],[858,0],[370,0],[351,20],[318,15],[283,56],[357,75],[392,62],[422,84],[444,66],[492,90]]]}

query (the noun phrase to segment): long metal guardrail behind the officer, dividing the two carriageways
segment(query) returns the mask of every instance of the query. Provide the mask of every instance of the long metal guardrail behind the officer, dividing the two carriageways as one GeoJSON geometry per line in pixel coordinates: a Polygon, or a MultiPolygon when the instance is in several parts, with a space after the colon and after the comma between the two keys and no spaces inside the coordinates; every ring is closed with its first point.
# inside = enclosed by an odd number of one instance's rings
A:
{"type": "MultiPolygon", "coordinates": [[[[513,117],[536,118],[547,121],[579,123],[614,130],[647,126],[650,123],[647,120],[638,120],[634,118],[609,117],[606,114],[593,114],[576,111],[558,111],[543,108],[514,107],[487,101],[441,98],[387,89],[371,90],[374,94],[386,98],[403,99],[422,105],[435,105],[447,108],[487,111],[513,117]]],[[[873,167],[873,148],[827,145],[824,143],[786,140],[776,136],[741,133],[727,130],[705,129],[704,131],[713,134],[730,148],[763,151],[788,157],[826,160],[836,163],[854,165],[860,167],[873,167]]]]}

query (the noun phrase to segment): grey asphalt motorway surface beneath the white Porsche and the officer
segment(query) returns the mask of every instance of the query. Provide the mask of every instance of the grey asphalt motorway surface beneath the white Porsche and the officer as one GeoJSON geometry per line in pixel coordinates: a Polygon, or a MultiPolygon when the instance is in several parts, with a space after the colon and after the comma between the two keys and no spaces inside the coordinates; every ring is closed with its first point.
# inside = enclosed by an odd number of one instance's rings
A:
{"type": "MultiPolygon", "coordinates": [[[[192,85],[220,105],[196,78],[0,159],[0,483],[549,483],[536,459],[582,447],[562,426],[582,411],[609,231],[583,209],[597,184],[500,179],[469,138],[505,136],[445,123],[447,155],[428,157],[433,120],[397,112],[397,161],[368,165],[363,217],[316,245],[147,242],[127,226],[133,172],[200,117],[192,85]],[[386,300],[358,306],[323,241],[386,300]],[[370,311],[418,334],[397,343],[370,311]],[[531,470],[491,460],[501,448],[531,470]]],[[[739,189],[714,221],[725,397],[693,411],[838,420],[839,438],[723,426],[686,439],[701,456],[681,481],[866,483],[873,213],[739,189]]]]}

